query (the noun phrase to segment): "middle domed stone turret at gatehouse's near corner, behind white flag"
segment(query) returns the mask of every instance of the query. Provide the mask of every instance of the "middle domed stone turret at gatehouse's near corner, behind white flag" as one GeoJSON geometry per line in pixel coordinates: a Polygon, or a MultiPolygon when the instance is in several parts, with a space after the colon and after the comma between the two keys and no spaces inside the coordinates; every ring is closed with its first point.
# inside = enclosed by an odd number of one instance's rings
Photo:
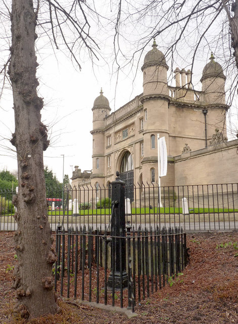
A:
{"type": "Polygon", "coordinates": [[[145,123],[143,131],[144,157],[142,163],[143,179],[150,179],[151,170],[157,178],[157,134],[165,136],[169,151],[169,89],[167,83],[168,65],[164,54],[157,50],[155,41],[152,50],[144,58],[143,71],[143,104],[145,123]]]}

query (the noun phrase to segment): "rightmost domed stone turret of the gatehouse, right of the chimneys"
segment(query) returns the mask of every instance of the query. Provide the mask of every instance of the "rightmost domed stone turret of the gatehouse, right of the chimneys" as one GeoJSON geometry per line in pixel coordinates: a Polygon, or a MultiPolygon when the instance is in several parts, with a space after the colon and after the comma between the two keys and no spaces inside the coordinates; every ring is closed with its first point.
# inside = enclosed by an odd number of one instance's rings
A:
{"type": "Polygon", "coordinates": [[[228,106],[225,104],[225,75],[219,63],[215,62],[213,53],[210,62],[205,65],[201,78],[201,101],[207,110],[208,138],[215,129],[222,131],[226,136],[225,112],[228,106]]]}

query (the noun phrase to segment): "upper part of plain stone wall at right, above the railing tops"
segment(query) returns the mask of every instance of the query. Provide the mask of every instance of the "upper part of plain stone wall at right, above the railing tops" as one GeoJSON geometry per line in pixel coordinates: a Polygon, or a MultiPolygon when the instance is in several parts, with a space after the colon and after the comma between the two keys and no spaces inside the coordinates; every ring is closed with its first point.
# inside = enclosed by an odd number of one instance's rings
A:
{"type": "Polygon", "coordinates": [[[238,140],[174,157],[175,185],[238,183],[238,140]]]}

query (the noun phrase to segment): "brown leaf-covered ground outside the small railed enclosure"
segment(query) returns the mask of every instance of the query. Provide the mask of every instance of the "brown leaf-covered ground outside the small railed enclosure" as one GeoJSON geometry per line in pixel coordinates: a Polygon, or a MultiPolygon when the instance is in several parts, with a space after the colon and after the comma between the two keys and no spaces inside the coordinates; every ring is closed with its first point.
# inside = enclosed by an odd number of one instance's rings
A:
{"type": "MultiPolygon", "coordinates": [[[[190,263],[183,275],[137,304],[137,317],[75,306],[58,299],[61,312],[31,319],[30,324],[238,323],[238,232],[187,235],[190,263]]],[[[0,323],[25,323],[13,315],[11,288],[14,259],[13,232],[0,232],[0,323]]]]}

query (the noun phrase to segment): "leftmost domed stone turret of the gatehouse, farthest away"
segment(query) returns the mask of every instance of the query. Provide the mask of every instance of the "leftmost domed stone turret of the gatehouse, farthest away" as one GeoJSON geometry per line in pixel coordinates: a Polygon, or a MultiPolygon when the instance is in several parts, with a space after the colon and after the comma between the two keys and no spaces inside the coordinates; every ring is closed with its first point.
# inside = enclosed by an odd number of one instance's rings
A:
{"type": "Polygon", "coordinates": [[[94,100],[93,104],[93,172],[91,176],[91,184],[93,188],[97,183],[102,187],[104,184],[104,132],[105,117],[110,114],[109,101],[103,96],[101,89],[100,96],[94,100]]]}

